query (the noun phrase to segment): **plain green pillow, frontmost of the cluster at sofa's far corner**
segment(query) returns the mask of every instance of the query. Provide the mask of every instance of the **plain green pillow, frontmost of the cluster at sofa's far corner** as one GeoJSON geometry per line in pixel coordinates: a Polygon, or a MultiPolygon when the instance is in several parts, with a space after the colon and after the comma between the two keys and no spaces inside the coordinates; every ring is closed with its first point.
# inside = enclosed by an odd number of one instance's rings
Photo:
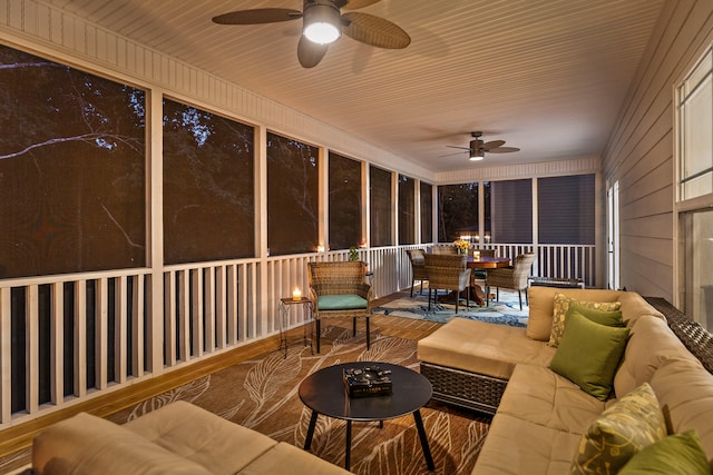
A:
{"type": "Polygon", "coordinates": [[[627,337],[628,328],[607,327],[574,313],[549,368],[585,393],[606,400],[627,337]]]}

